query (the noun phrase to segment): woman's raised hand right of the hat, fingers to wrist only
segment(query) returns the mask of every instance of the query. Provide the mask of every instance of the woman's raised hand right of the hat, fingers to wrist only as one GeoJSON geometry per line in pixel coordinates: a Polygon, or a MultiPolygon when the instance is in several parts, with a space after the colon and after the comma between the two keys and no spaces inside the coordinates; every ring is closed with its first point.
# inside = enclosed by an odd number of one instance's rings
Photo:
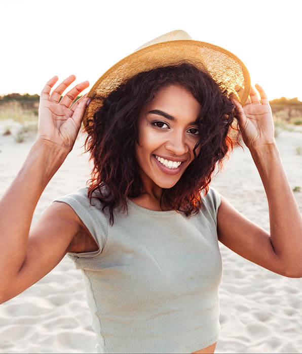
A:
{"type": "Polygon", "coordinates": [[[260,94],[261,102],[253,87],[251,87],[249,98],[243,107],[233,99],[237,108],[236,118],[241,135],[249,149],[276,144],[269,100],[261,86],[256,84],[255,87],[260,94]]]}

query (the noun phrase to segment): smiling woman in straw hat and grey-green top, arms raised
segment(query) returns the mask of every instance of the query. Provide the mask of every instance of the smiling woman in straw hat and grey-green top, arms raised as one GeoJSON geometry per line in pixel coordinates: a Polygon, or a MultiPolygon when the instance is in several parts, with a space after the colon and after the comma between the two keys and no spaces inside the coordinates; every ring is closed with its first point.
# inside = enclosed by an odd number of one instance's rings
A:
{"type": "Polygon", "coordinates": [[[41,94],[38,137],[0,203],[1,246],[7,250],[1,302],[40,280],[68,253],[83,270],[98,351],[214,352],[218,240],[273,272],[302,276],[302,220],[265,92],[256,86],[260,102],[243,64],[229,52],[211,47],[243,68],[242,86],[230,83],[233,66],[211,71],[213,56],[210,65],[205,55],[201,65],[196,54],[192,60],[192,46],[209,47],[182,41],[176,32],[176,39],[171,33],[169,41],[156,38],[112,67],[90,91],[90,104],[84,96],[70,107],[87,81],[59,101],[75,77],[52,93],[57,77],[49,80],[41,94]],[[174,45],[183,60],[172,65],[167,56],[174,45]],[[165,55],[157,52],[167,48],[165,55]],[[161,62],[137,61],[146,53],[161,62]],[[123,74],[131,60],[136,65],[123,74]],[[94,161],[89,188],[58,198],[29,231],[36,203],[71,151],[84,114],[94,161]],[[215,166],[236,144],[230,128],[235,115],[267,194],[270,234],[209,186],[215,166]]]}

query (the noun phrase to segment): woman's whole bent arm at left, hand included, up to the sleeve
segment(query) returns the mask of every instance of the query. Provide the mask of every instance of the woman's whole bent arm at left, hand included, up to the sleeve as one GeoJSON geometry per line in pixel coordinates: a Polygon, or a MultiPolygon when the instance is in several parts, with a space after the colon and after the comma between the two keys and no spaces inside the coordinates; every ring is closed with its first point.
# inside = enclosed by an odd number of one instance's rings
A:
{"type": "MultiPolygon", "coordinates": [[[[1,302],[6,301],[8,294],[16,290],[25,265],[26,269],[31,271],[39,266],[41,278],[50,271],[50,266],[54,267],[63,257],[71,239],[79,232],[79,225],[77,226],[76,223],[72,227],[64,226],[58,210],[55,211],[52,207],[49,211],[51,218],[39,220],[37,227],[29,235],[36,204],[52,176],[71,151],[81,126],[88,99],[79,100],[80,102],[70,109],[68,107],[87,87],[87,81],[75,86],[59,103],[62,92],[74,79],[72,75],[64,80],[51,95],[50,90],[57,78],[51,79],[44,87],[39,107],[38,137],[21,170],[0,200],[1,302]],[[61,233],[63,239],[59,241],[56,238],[58,220],[61,222],[60,226],[66,231],[61,233]],[[54,240],[56,244],[53,244],[54,240]],[[29,266],[28,256],[32,254],[34,248],[39,248],[42,253],[45,252],[47,257],[42,254],[39,257],[36,254],[36,257],[30,257],[29,266]],[[41,259],[44,259],[45,263],[41,263],[41,259]]],[[[69,219],[71,220],[72,216],[69,219]]],[[[36,279],[35,272],[27,271],[27,276],[32,277],[32,280],[36,279]]],[[[26,284],[31,285],[33,282],[29,278],[26,284]]]]}

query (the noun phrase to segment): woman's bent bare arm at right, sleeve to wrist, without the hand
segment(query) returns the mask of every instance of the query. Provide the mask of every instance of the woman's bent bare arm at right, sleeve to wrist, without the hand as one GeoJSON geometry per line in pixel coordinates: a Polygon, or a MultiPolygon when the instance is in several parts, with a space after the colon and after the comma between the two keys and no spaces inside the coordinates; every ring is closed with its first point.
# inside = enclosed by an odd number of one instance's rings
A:
{"type": "Polygon", "coordinates": [[[223,197],[218,238],[242,257],[272,272],[302,277],[302,219],[276,146],[252,153],[269,203],[270,233],[240,214],[223,197]]]}

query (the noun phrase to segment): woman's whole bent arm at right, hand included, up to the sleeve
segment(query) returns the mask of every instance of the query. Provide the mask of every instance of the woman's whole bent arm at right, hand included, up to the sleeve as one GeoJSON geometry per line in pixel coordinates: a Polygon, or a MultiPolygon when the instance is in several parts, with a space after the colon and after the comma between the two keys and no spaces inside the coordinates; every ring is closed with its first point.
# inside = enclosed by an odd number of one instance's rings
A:
{"type": "Polygon", "coordinates": [[[223,197],[218,209],[218,238],[241,256],[273,272],[302,277],[302,217],[287,181],[274,138],[265,92],[257,86],[244,107],[235,102],[243,140],[249,148],[268,199],[270,234],[250,222],[223,197]]]}

